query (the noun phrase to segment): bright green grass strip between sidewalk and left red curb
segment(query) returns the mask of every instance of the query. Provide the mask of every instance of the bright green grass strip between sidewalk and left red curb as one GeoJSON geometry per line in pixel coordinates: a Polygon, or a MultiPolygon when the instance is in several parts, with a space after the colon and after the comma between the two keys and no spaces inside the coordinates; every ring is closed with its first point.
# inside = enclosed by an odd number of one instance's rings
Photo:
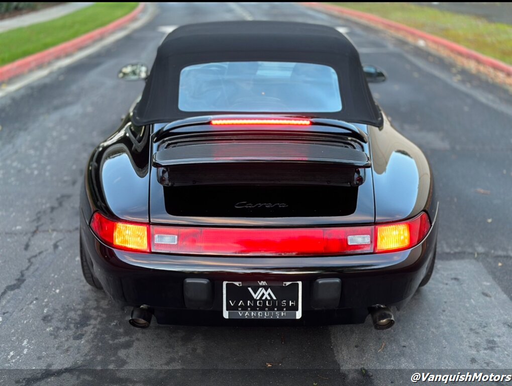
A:
{"type": "Polygon", "coordinates": [[[0,66],[103,27],[138,4],[96,3],[49,22],[0,33],[0,66]]]}

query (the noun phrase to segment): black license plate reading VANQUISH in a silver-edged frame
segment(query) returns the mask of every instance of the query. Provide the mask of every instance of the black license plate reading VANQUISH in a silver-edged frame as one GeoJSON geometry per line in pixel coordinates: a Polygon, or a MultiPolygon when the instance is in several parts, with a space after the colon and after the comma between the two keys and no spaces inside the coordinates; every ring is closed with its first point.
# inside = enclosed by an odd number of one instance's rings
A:
{"type": "Polygon", "coordinates": [[[226,319],[300,319],[302,282],[224,282],[226,319]]]}

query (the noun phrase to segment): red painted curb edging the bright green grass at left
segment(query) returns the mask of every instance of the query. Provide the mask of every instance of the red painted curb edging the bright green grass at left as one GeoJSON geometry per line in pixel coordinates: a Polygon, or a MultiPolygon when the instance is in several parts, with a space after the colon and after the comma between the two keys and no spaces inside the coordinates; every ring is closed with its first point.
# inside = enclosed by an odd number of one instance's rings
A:
{"type": "Polygon", "coordinates": [[[18,59],[12,63],[9,63],[8,65],[0,67],[0,82],[5,82],[6,80],[15,76],[25,74],[36,67],[45,65],[54,59],[69,55],[75,51],[78,51],[82,47],[88,46],[93,41],[111,34],[115,30],[123,27],[135,19],[135,17],[137,17],[137,15],[142,12],[144,6],[145,3],[141,3],[131,13],[115,20],[109,25],[88,32],[85,35],[79,36],[75,39],[63,42],[62,44],[49,48],[48,50],[38,52],[22,59],[18,59]]]}

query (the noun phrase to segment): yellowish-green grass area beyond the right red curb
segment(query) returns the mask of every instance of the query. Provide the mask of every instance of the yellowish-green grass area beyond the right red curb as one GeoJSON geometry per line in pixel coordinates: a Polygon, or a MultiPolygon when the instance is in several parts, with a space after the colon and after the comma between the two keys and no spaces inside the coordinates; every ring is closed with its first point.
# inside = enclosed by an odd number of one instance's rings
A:
{"type": "Polygon", "coordinates": [[[440,36],[512,64],[512,26],[408,3],[333,3],[440,36]]]}

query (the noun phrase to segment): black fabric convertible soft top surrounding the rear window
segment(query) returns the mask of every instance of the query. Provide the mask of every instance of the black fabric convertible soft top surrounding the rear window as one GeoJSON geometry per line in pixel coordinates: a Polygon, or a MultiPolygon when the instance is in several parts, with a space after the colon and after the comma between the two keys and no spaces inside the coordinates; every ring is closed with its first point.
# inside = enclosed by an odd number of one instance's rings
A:
{"type": "Polygon", "coordinates": [[[330,66],[338,75],[342,110],[302,113],[381,125],[382,117],[368,88],[359,54],[343,34],[316,24],[256,21],[191,24],[169,33],[158,48],[142,98],[135,107],[134,123],[143,125],[198,115],[229,114],[229,111],[183,112],[178,109],[181,70],[199,63],[223,61],[287,61],[330,66]]]}

